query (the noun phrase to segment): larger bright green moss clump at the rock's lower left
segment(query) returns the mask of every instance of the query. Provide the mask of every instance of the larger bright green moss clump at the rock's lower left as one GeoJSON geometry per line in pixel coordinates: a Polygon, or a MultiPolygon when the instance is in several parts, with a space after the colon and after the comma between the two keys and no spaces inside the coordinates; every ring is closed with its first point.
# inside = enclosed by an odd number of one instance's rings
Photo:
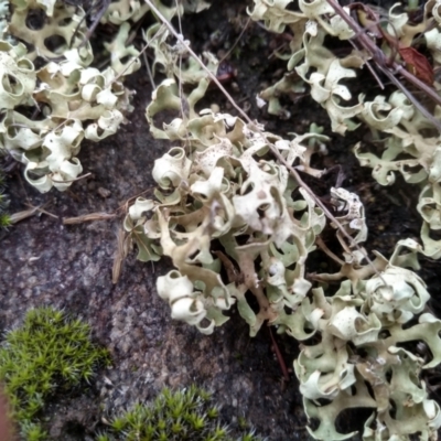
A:
{"type": "Polygon", "coordinates": [[[10,331],[0,348],[0,379],[23,439],[46,440],[40,424],[45,400],[82,380],[108,361],[106,349],[90,342],[90,326],[52,308],[26,313],[21,327],[10,331]]]}

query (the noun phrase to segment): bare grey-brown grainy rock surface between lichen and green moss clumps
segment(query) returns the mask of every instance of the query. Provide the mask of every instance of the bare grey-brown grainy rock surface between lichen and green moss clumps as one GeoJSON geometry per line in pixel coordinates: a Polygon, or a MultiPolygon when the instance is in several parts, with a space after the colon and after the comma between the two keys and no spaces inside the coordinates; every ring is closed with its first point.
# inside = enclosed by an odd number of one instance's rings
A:
{"type": "MultiPolygon", "coordinates": [[[[143,114],[151,89],[144,73],[133,75],[129,87],[137,90],[130,123],[99,144],[82,148],[79,159],[90,178],[66,193],[39,194],[23,184],[20,173],[9,186],[11,213],[30,203],[51,215],[17,224],[0,243],[0,329],[19,325],[29,308],[53,305],[84,318],[94,340],[112,356],[112,367],[99,372],[86,394],[53,398],[51,434],[58,440],[92,437],[103,417],[152,399],[164,386],[195,383],[214,392],[226,422],[245,417],[270,440],[305,439],[297,381],[283,385],[267,329],[250,338],[241,320],[230,320],[204,336],[172,321],[154,288],[155,278],[170,269],[166,261],[142,263],[131,252],[118,283],[111,282],[126,204],[152,189],[153,160],[169,148],[149,133],[143,114]],[[108,197],[101,189],[110,192],[108,197]],[[95,212],[118,216],[63,225],[63,218],[95,212]]],[[[278,341],[291,365],[295,342],[278,341]]]]}

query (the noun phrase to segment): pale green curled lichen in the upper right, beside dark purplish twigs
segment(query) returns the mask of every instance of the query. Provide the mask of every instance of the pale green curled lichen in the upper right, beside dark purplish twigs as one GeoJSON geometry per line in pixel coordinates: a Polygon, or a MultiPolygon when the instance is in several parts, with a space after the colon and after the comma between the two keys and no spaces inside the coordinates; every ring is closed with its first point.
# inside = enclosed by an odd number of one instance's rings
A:
{"type": "MultiPolygon", "coordinates": [[[[343,135],[358,127],[357,120],[366,123],[378,140],[381,138],[385,148],[383,154],[377,157],[362,152],[361,144],[357,144],[356,157],[362,165],[373,168],[373,175],[381,185],[392,184],[395,172],[401,173],[408,183],[422,185],[417,206],[424,220],[421,228],[422,252],[431,258],[440,258],[441,240],[432,239],[430,230],[441,228],[441,196],[438,190],[441,180],[441,138],[439,133],[430,133],[431,122],[402,92],[394,92],[389,97],[378,95],[372,101],[367,101],[362,94],[357,104],[344,106],[352,98],[347,84],[366,65],[367,57],[357,50],[345,57],[338,57],[325,47],[324,39],[327,35],[343,41],[354,36],[354,32],[325,0],[300,0],[297,12],[287,9],[291,1],[254,2],[249,10],[254,20],[263,20],[269,31],[281,33],[289,28],[293,33],[289,45],[290,54],[281,54],[281,57],[289,57],[288,71],[295,72],[298,76],[286,74],[279,82],[280,85],[271,86],[260,94],[261,98],[269,101],[268,111],[284,116],[279,101],[280,94],[301,90],[308,84],[312,98],[326,109],[333,131],[343,135]],[[381,137],[378,136],[379,132],[381,137]]],[[[375,23],[370,21],[367,25],[375,23]]],[[[399,11],[399,4],[395,4],[388,12],[384,31],[396,39],[401,49],[411,47],[413,40],[422,36],[419,40],[426,43],[433,60],[431,68],[437,71],[441,67],[440,26],[439,2],[430,0],[424,4],[422,21],[417,24],[409,20],[406,12],[399,11]]],[[[381,49],[387,55],[397,55],[386,39],[381,49]]],[[[441,88],[437,78],[433,88],[441,88]]],[[[434,116],[439,119],[439,106],[434,107],[434,116]]]]}

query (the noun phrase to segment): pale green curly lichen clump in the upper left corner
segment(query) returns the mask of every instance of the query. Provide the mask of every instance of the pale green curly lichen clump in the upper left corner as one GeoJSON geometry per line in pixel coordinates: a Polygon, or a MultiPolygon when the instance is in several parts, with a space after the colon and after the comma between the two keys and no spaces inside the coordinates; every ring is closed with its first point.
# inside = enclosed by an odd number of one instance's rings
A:
{"type": "Polygon", "coordinates": [[[73,41],[84,17],[80,8],[63,1],[12,4],[8,35],[33,50],[28,52],[21,43],[0,42],[0,146],[25,164],[26,181],[39,191],[53,186],[66,190],[83,171],[76,158],[82,140],[99,141],[114,135],[131,110],[130,93],[122,79],[139,68],[138,51],[127,46],[128,28],[121,25],[106,45],[111,53],[110,66],[99,71],[90,67],[90,44],[79,47],[86,31],[84,22],[73,41]],[[44,14],[43,28],[32,29],[26,18],[39,11],[44,14]],[[53,35],[60,43],[49,47],[53,35]],[[39,71],[32,63],[36,57],[47,61],[39,71]],[[19,106],[21,110],[17,111],[19,106]],[[23,108],[29,112],[23,114],[23,108]],[[28,115],[34,110],[43,118],[30,119],[28,115]]]}

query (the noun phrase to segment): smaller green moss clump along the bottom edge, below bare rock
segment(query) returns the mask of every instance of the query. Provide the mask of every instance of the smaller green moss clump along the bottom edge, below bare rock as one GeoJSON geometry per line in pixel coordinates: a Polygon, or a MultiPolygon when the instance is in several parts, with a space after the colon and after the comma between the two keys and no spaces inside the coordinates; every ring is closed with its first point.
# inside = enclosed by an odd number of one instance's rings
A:
{"type": "MultiPolygon", "coordinates": [[[[229,430],[220,423],[219,408],[212,405],[207,391],[191,386],[172,392],[163,389],[152,405],[136,405],[116,417],[106,433],[96,441],[233,441],[229,430]]],[[[252,432],[240,441],[259,441],[252,432]]]]}

